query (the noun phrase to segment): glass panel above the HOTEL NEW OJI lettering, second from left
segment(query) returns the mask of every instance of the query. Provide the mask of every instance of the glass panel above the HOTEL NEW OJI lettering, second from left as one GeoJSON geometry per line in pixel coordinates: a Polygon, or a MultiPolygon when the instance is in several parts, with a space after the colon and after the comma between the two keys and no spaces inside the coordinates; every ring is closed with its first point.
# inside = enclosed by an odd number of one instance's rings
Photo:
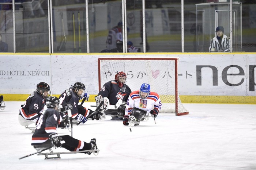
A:
{"type": "Polygon", "coordinates": [[[48,1],[15,0],[17,53],[49,53],[48,1]]]}

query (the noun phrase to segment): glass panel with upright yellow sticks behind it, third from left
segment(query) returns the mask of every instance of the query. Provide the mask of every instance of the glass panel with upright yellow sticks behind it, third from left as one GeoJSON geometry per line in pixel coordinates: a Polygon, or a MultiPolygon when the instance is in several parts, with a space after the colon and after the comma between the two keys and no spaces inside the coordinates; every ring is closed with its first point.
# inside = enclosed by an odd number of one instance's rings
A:
{"type": "Polygon", "coordinates": [[[85,0],[52,1],[54,53],[87,53],[85,0]]]}

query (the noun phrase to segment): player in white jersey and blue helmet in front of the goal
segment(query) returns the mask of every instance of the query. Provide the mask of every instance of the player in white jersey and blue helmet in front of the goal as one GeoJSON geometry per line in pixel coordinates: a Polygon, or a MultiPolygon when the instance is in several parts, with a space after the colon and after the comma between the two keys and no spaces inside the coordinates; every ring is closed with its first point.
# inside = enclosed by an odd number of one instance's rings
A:
{"type": "Polygon", "coordinates": [[[150,85],[143,83],[140,87],[140,90],[134,91],[129,95],[127,106],[125,108],[123,124],[129,125],[128,119],[129,116],[133,113],[132,110],[134,108],[146,111],[146,115],[150,113],[151,116],[157,117],[161,107],[162,103],[159,95],[155,92],[150,92],[150,85]]]}

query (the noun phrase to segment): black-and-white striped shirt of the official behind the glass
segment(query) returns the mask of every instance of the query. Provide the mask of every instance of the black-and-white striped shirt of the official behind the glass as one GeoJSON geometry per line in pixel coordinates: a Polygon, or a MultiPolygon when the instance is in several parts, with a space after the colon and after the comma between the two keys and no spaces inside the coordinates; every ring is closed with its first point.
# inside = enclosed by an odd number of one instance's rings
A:
{"type": "Polygon", "coordinates": [[[229,47],[229,36],[226,36],[223,34],[223,38],[221,40],[221,45],[219,45],[219,41],[217,39],[217,35],[211,39],[211,45],[209,47],[209,52],[211,52],[211,49],[215,48],[216,52],[222,50],[224,52],[230,51],[229,47]]]}

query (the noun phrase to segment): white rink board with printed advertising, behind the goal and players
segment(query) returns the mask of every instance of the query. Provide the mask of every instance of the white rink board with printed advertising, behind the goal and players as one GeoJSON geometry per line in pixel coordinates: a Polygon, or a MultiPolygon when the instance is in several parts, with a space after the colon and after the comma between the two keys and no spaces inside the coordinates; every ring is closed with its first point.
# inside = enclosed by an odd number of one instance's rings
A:
{"type": "MultiPolygon", "coordinates": [[[[104,56],[124,57],[123,55],[104,56]]],[[[131,55],[126,56],[131,57],[131,55]]],[[[137,56],[166,57],[166,55],[137,56]]],[[[97,94],[98,57],[102,55],[0,55],[0,94],[30,94],[41,81],[50,84],[52,94],[61,94],[76,81],[85,84],[87,93],[97,94]]],[[[180,57],[178,66],[180,95],[256,96],[255,74],[252,73],[252,68],[256,65],[255,54],[178,54],[175,57],[180,57]],[[202,67],[202,76],[197,70],[200,66],[207,66],[202,67]],[[216,77],[213,76],[212,68],[217,73],[216,77]],[[241,75],[227,75],[238,73],[241,75]],[[200,78],[201,85],[198,84],[200,78]]]]}

